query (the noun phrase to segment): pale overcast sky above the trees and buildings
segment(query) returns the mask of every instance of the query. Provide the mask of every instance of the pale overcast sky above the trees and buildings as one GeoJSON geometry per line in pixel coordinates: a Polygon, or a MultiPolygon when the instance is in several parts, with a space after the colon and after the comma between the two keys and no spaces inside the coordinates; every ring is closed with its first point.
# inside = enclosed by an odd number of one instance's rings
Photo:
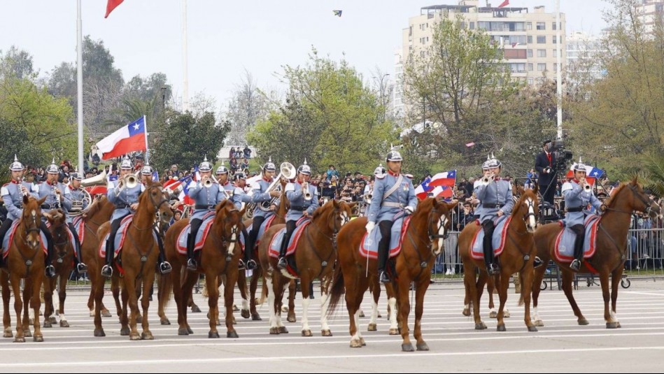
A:
{"type": "MultiPolygon", "coordinates": [[[[486,0],[480,0],[485,5],[486,0]]],[[[83,0],[83,34],[103,40],[122,70],[134,75],[166,73],[176,96],[182,94],[181,0],[125,0],[104,19],[106,0],[83,0]]],[[[497,6],[501,0],[490,0],[497,6]]],[[[284,64],[305,64],[311,46],[320,55],[348,62],[372,78],[376,66],[394,70],[402,29],[423,6],[456,0],[188,0],[189,91],[216,99],[232,95],[249,71],[259,87],[278,88],[284,64]],[[335,17],[332,10],[343,10],[335,17]]],[[[510,6],[544,5],[555,0],[510,0],[510,6]]],[[[76,0],[20,0],[0,4],[0,50],[27,50],[42,75],[61,62],[76,62],[76,0]]],[[[560,0],[566,34],[599,34],[605,27],[602,0],[560,0]]]]}

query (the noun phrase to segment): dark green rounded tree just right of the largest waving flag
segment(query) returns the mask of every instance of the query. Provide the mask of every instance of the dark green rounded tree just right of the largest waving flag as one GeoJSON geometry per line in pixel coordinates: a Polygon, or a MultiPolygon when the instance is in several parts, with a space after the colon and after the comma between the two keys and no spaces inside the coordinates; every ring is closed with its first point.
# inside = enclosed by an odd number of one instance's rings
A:
{"type": "Polygon", "coordinates": [[[200,164],[203,157],[214,162],[229,127],[228,122],[216,124],[215,115],[210,112],[200,116],[190,112],[169,113],[166,124],[150,149],[150,164],[162,171],[171,164],[189,168],[200,164]]]}

